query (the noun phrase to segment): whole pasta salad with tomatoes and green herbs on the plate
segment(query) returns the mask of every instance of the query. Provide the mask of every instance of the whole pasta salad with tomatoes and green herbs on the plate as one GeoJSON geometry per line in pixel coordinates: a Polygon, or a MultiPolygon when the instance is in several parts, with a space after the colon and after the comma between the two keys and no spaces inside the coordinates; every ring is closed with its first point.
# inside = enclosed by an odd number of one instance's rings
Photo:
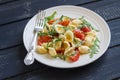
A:
{"type": "Polygon", "coordinates": [[[57,12],[45,18],[45,25],[37,37],[36,52],[48,54],[69,62],[76,62],[80,55],[98,52],[98,30],[84,19],[62,15],[55,18],[57,12]]]}

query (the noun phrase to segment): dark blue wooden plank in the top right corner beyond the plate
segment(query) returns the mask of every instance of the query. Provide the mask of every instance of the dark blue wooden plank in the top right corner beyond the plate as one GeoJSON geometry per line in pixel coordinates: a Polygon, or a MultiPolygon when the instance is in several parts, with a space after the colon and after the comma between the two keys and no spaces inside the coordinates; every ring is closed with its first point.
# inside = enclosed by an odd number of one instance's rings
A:
{"type": "Polygon", "coordinates": [[[120,0],[102,0],[99,2],[83,5],[83,7],[89,8],[105,20],[111,20],[114,18],[120,18],[120,0]]]}

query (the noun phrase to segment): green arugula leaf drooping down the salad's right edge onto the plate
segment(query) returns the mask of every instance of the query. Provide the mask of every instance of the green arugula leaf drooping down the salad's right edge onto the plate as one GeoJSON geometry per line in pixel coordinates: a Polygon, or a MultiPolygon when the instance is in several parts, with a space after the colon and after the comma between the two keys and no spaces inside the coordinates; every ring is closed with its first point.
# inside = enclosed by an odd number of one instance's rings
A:
{"type": "Polygon", "coordinates": [[[100,48],[98,43],[100,43],[100,41],[98,38],[96,38],[96,40],[94,41],[94,46],[90,48],[90,58],[92,58],[94,54],[97,54],[98,49],[100,48]]]}

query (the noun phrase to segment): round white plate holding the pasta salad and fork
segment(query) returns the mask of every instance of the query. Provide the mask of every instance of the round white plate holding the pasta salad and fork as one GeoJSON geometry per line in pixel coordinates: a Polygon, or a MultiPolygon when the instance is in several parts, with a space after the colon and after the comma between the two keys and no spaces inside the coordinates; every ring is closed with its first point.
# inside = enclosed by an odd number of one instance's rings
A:
{"type": "MultiPolygon", "coordinates": [[[[47,12],[46,16],[52,14],[54,11],[57,11],[56,17],[60,17],[61,15],[66,15],[72,18],[73,17],[80,18],[81,16],[84,16],[85,19],[89,21],[96,29],[100,30],[100,32],[98,33],[98,38],[100,39],[101,43],[100,43],[99,52],[95,54],[93,58],[89,58],[89,54],[82,55],[80,56],[77,62],[68,63],[60,59],[49,59],[45,55],[34,53],[33,55],[38,62],[57,68],[80,67],[97,60],[107,50],[111,39],[110,30],[104,19],[95,12],[86,8],[72,6],[72,5],[56,6],[56,7],[48,8],[45,11],[47,12]]],[[[34,35],[33,29],[35,25],[35,16],[31,18],[31,20],[27,23],[24,29],[23,41],[27,51],[29,50],[31,40],[34,35]]]]}

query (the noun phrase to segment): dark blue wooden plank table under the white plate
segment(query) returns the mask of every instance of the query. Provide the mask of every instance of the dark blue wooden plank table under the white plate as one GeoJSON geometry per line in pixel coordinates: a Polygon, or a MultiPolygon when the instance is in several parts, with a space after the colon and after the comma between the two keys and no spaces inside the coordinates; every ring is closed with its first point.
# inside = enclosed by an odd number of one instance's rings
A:
{"type": "Polygon", "coordinates": [[[0,0],[0,80],[120,80],[120,0],[0,0]],[[57,69],[35,61],[25,66],[23,30],[39,9],[76,5],[101,15],[111,43],[97,61],[74,69],[57,69]]]}

